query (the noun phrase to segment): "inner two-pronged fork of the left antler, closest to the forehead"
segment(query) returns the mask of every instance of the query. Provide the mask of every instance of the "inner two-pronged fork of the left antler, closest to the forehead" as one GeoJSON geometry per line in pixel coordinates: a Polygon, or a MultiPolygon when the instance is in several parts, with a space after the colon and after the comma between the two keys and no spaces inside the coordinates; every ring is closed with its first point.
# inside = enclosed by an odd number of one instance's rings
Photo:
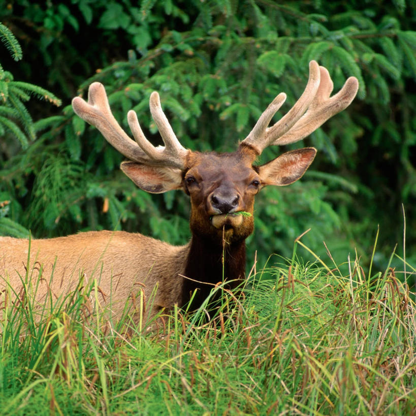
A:
{"type": "Polygon", "coordinates": [[[164,164],[183,169],[185,166],[186,155],[189,150],[185,149],[175,136],[175,133],[162,110],[159,94],[156,91],[151,93],[149,105],[150,113],[159,129],[159,133],[162,136],[165,146],[155,147],[146,139],[136,113],[133,110],[130,110],[129,113],[127,113],[127,121],[129,121],[130,129],[132,130],[136,142],[147,156],[158,165],[164,164]]]}

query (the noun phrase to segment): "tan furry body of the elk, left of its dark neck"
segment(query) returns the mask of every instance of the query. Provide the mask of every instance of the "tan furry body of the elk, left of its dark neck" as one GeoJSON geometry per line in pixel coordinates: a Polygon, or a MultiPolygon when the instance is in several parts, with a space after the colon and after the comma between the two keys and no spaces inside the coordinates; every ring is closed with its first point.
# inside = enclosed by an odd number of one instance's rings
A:
{"type": "Polygon", "coordinates": [[[0,305],[4,305],[7,296],[21,296],[26,276],[29,286],[37,287],[36,302],[41,308],[48,296],[56,301],[75,291],[80,279],[82,287],[96,279],[100,308],[105,308],[115,321],[126,305],[137,312],[138,295],[143,292],[147,316],[182,302],[181,275],[187,245],[175,247],[122,231],[33,239],[27,267],[28,248],[29,240],[0,237],[0,305]],[[12,289],[8,295],[6,287],[12,289]]]}

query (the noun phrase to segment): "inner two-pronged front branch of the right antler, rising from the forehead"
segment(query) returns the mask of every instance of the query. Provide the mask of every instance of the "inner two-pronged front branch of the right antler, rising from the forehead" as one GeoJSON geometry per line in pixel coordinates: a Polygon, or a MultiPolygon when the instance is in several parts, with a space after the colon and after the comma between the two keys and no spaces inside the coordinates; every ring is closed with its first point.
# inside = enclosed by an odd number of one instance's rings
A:
{"type": "Polygon", "coordinates": [[[291,127],[302,117],[318,90],[320,79],[321,73],[319,71],[319,66],[316,61],[312,60],[309,62],[308,83],[295,105],[272,127],[268,127],[273,115],[286,99],[286,94],[283,92],[277,95],[273,102],[260,116],[258,122],[253,127],[253,130],[251,130],[242,143],[251,146],[255,151],[257,151],[258,154],[261,154],[267,146],[270,146],[276,138],[289,131],[291,127]]]}

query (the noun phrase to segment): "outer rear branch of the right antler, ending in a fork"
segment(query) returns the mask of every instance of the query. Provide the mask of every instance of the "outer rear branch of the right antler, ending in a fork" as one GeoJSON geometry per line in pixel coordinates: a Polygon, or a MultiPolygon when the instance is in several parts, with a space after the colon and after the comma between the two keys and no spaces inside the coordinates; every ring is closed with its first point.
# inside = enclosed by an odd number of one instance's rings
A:
{"type": "Polygon", "coordinates": [[[321,70],[321,84],[306,113],[286,134],[276,139],[272,144],[283,145],[297,142],[311,134],[333,115],[344,110],[354,100],[358,91],[358,79],[349,77],[343,87],[330,98],[334,84],[329,72],[324,67],[321,70]]]}

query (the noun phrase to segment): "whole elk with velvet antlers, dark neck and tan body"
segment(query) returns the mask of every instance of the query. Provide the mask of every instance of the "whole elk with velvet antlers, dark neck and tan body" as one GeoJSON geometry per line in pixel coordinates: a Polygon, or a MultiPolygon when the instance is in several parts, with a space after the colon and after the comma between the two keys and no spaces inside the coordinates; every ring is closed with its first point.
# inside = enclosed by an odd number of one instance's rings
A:
{"type": "MultiPolygon", "coordinates": [[[[134,139],[111,113],[105,88],[94,82],[88,101],[76,97],[74,111],[97,127],[128,161],[121,170],[149,193],[182,189],[190,197],[188,244],[172,246],[141,234],[90,231],[52,239],[0,238],[0,290],[18,296],[23,280],[37,285],[36,300],[76,291],[97,279],[101,307],[118,319],[126,303],[144,294],[148,316],[192,298],[199,307],[223,274],[230,287],[245,278],[245,239],[253,232],[254,197],[267,185],[289,185],[305,173],[316,154],[306,147],[281,154],[257,166],[255,159],[271,145],[299,141],[353,101],[358,80],[350,77],[330,97],[333,82],[316,61],[295,105],[274,125],[272,117],[285,101],[280,93],[267,107],[238,149],[230,153],[201,153],[179,143],[162,110],[157,92],[150,95],[150,112],[164,141],[154,147],[144,136],[137,115],[127,113],[134,139]],[[243,215],[242,213],[251,215],[243,215]],[[30,252],[29,252],[30,244],[30,252]],[[225,251],[225,260],[222,254],[225,251]],[[8,292],[9,291],[9,292],[8,292]]],[[[97,307],[97,305],[95,305],[97,307]]],[[[142,311],[143,312],[143,311],[142,311]]],[[[137,310],[132,310],[134,318],[137,310]]]]}

